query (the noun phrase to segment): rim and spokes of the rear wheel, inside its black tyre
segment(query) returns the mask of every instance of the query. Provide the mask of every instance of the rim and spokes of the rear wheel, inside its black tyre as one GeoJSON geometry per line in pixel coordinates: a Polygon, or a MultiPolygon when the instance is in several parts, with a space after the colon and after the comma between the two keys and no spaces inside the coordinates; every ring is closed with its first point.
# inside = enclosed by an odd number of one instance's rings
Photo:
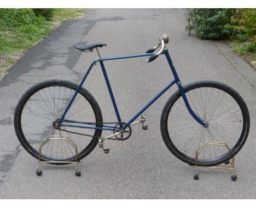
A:
{"type": "MultiPolygon", "coordinates": [[[[91,145],[94,138],[54,128],[54,121],[60,119],[69,101],[75,93],[75,88],[68,85],[51,84],[34,90],[22,106],[20,115],[20,130],[25,143],[35,153],[39,154],[39,146],[50,136],[68,137],[78,148],[78,156],[91,145]]],[[[79,91],[65,119],[96,123],[95,109],[90,99],[79,91]]],[[[63,127],[63,129],[94,136],[96,130],[63,127]]],[[[68,161],[75,158],[74,147],[67,140],[53,139],[46,143],[41,152],[43,160],[68,161]]]]}

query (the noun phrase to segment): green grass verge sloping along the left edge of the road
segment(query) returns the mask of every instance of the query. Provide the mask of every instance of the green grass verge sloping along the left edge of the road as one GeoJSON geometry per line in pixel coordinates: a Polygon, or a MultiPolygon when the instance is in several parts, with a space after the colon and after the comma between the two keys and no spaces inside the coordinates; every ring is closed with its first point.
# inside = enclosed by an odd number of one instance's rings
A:
{"type": "Polygon", "coordinates": [[[48,36],[62,22],[84,17],[86,9],[54,9],[53,19],[37,17],[33,25],[7,27],[0,22],[0,80],[25,52],[48,36]]]}

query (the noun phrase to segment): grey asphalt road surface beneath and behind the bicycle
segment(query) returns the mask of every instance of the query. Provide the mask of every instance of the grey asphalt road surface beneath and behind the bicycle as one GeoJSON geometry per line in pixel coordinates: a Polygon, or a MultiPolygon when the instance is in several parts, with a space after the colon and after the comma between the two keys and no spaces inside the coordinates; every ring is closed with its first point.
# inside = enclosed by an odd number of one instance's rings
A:
{"type": "MultiPolygon", "coordinates": [[[[63,23],[48,38],[29,50],[0,81],[0,198],[1,199],[243,199],[256,197],[255,98],[256,72],[220,41],[206,41],[184,31],[182,9],[89,9],[83,20],[63,23]],[[226,170],[194,168],[166,148],[160,133],[160,115],[173,87],[147,111],[148,131],[132,127],[124,142],[107,141],[108,155],[95,148],[79,163],[82,176],[74,176],[74,165],[43,164],[36,175],[37,160],[19,144],[13,114],[21,95],[46,79],[79,83],[96,53],[75,51],[77,42],[106,42],[102,56],[143,53],[167,33],[167,45],[183,84],[203,79],[226,83],[246,101],[251,131],[236,156],[236,182],[226,170]]],[[[172,79],[165,58],[148,64],[146,58],[109,61],[105,64],[123,120],[129,120],[172,79]]],[[[84,87],[101,107],[103,120],[115,121],[100,66],[89,75],[84,87]]],[[[177,118],[179,115],[177,115],[177,118]]]]}

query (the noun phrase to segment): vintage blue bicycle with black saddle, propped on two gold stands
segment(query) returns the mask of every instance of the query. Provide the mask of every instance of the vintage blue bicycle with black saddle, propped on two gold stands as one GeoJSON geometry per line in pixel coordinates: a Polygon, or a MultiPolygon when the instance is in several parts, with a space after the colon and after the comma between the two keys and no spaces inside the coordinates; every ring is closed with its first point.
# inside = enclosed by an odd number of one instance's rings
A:
{"type": "Polygon", "coordinates": [[[46,137],[69,137],[78,146],[77,154],[62,140],[53,139],[45,146],[40,158],[45,162],[56,161],[54,164],[73,162],[76,156],[78,161],[82,160],[97,144],[104,153],[108,153],[109,149],[104,149],[103,141],[128,139],[132,133],[131,126],[135,124],[142,124],[142,129],[147,130],[143,112],[172,85],[177,84],[178,90],[166,102],[160,118],[160,131],[168,150],[190,165],[197,162],[199,166],[209,167],[229,161],[241,150],[248,137],[250,119],[245,101],[234,89],[220,82],[198,81],[183,87],[165,46],[167,43],[168,35],[164,34],[158,45],[146,53],[107,58],[102,58],[98,50],[98,47],[106,44],[74,45],[76,50],[82,52],[96,49],[98,58],[91,63],[79,85],[64,80],[49,80],[34,85],[22,95],[14,114],[15,132],[22,146],[38,159],[38,146],[46,137]],[[158,48],[160,51],[156,53],[158,48]],[[147,62],[150,63],[160,55],[165,55],[174,79],[129,121],[123,122],[103,62],[149,57],[147,62]],[[116,122],[103,123],[98,103],[82,87],[96,63],[101,65],[117,116],[116,122]],[[179,114],[179,118],[175,120],[173,115],[176,114],[179,114]],[[142,119],[135,121],[140,115],[142,119]],[[101,137],[102,131],[113,133],[101,137]],[[225,142],[230,150],[221,146],[209,146],[200,153],[200,158],[196,161],[196,150],[207,141],[225,142]]]}

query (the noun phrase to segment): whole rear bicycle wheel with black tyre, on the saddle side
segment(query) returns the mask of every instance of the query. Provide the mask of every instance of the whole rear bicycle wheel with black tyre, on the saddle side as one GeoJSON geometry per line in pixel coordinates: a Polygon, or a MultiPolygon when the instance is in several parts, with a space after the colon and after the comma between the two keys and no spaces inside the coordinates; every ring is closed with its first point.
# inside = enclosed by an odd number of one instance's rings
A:
{"type": "MultiPolygon", "coordinates": [[[[33,157],[38,158],[39,146],[51,136],[71,139],[77,145],[78,160],[87,156],[97,145],[102,130],[61,127],[66,130],[61,131],[54,127],[77,88],[78,85],[72,82],[50,80],[34,85],[21,97],[15,109],[14,127],[20,143],[33,157]]],[[[103,122],[100,107],[84,88],[78,91],[65,119],[103,122]]],[[[101,124],[96,126],[101,127],[101,124]]],[[[40,158],[49,162],[74,162],[75,149],[67,140],[52,139],[43,147],[40,158]]]]}

